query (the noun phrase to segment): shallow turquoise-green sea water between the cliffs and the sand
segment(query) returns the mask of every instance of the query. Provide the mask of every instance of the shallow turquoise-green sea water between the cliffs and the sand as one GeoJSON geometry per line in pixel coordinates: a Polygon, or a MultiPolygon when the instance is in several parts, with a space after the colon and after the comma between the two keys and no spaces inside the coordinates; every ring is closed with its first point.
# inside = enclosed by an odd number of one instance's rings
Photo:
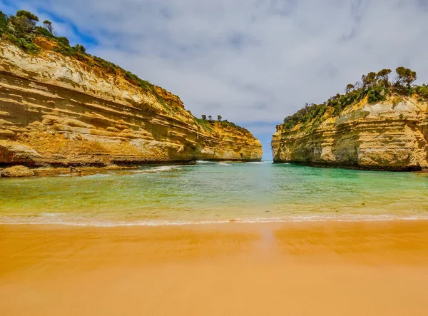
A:
{"type": "Polygon", "coordinates": [[[292,164],[141,167],[0,179],[0,223],[190,223],[428,219],[428,173],[292,164]]]}

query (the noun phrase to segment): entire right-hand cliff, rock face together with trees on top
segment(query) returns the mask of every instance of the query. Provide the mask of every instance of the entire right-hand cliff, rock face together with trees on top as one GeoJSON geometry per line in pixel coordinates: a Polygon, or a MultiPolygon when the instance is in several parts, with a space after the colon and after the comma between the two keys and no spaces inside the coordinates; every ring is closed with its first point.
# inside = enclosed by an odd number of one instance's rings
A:
{"type": "Polygon", "coordinates": [[[399,67],[362,76],[322,104],[311,104],[277,126],[274,162],[367,170],[428,169],[428,88],[399,67]]]}

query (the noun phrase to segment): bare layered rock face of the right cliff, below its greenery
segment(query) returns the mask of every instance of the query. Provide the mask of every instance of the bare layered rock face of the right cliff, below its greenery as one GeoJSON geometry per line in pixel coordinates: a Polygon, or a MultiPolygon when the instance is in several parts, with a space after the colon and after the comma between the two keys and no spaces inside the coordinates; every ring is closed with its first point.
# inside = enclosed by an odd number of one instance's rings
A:
{"type": "Polygon", "coordinates": [[[427,103],[391,97],[369,104],[367,98],[330,112],[319,126],[277,126],[272,136],[275,162],[331,165],[372,170],[428,169],[427,103]]]}

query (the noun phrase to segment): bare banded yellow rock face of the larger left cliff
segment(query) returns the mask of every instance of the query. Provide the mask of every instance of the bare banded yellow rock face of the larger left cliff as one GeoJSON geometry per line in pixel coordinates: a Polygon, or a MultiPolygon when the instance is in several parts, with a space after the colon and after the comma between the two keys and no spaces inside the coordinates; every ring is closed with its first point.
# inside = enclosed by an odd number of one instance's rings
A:
{"type": "Polygon", "coordinates": [[[260,160],[243,128],[197,120],[178,96],[53,51],[0,42],[0,164],[260,160]]]}

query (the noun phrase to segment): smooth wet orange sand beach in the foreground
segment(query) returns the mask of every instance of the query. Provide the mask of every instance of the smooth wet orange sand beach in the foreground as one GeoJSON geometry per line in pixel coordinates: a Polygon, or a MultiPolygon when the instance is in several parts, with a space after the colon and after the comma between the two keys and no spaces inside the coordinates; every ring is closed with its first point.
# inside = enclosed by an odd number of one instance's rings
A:
{"type": "Polygon", "coordinates": [[[428,221],[0,226],[0,315],[428,315],[428,221]]]}

